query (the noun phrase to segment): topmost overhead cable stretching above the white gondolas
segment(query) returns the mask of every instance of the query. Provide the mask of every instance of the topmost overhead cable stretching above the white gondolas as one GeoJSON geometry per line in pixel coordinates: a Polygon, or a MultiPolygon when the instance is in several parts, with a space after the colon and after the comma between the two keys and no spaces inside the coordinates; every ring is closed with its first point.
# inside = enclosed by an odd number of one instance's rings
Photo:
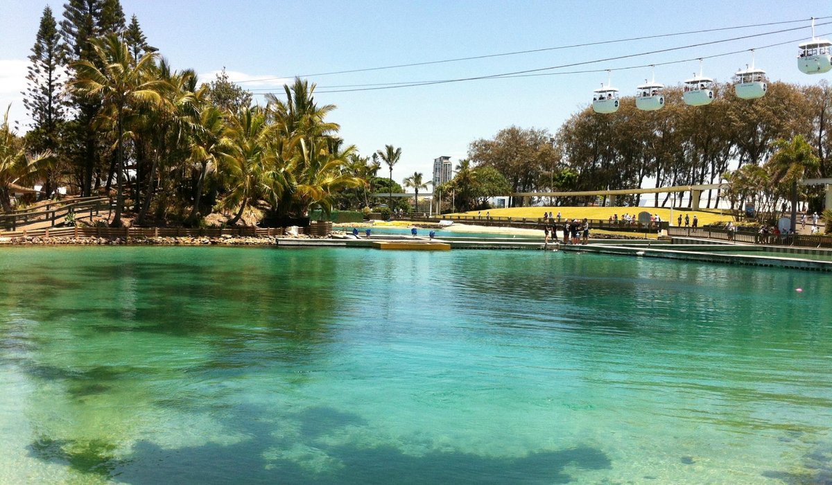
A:
{"type": "MultiPolygon", "coordinates": [[[[814,17],[815,20],[824,20],[827,18],[832,17],[814,17]]],[[[529,49],[525,51],[514,51],[514,52],[502,52],[498,54],[485,54],[482,56],[472,56],[472,57],[456,57],[453,59],[442,59],[439,61],[426,61],[426,62],[410,62],[407,64],[395,64],[392,66],[381,66],[381,67],[364,67],[360,69],[347,69],[343,71],[332,71],[332,72],[317,72],[314,74],[295,74],[293,76],[280,76],[280,77],[263,77],[260,79],[248,79],[245,81],[238,81],[237,84],[242,84],[245,82],[264,82],[264,81],[275,81],[280,79],[287,79],[287,78],[294,78],[294,77],[322,77],[322,76],[331,76],[334,74],[349,74],[354,72],[370,72],[370,71],[382,71],[385,69],[399,69],[401,67],[417,67],[417,66],[428,66],[431,64],[443,64],[448,62],[462,62],[462,61],[473,61],[478,59],[487,59],[490,57],[505,57],[505,56],[517,56],[520,54],[530,54],[535,52],[548,52],[548,51],[557,51],[563,49],[573,49],[577,47],[592,47],[592,46],[602,46],[607,44],[614,44],[619,42],[634,42],[634,41],[642,41],[642,40],[650,40],[650,39],[657,39],[657,38],[664,38],[664,37],[678,37],[683,35],[692,35],[692,34],[701,34],[701,33],[709,33],[709,32],[722,32],[722,31],[729,31],[729,30],[738,30],[741,28],[753,28],[753,27],[770,27],[772,25],[783,25],[787,23],[797,23],[797,22],[809,22],[811,18],[802,18],[798,20],[786,20],[782,22],[765,22],[765,23],[755,23],[755,24],[748,24],[748,25],[740,25],[734,27],[717,27],[717,28],[710,28],[710,29],[701,29],[701,30],[694,30],[694,31],[686,31],[686,32],[672,32],[666,34],[656,34],[651,36],[641,36],[641,37],[627,37],[623,39],[615,39],[609,41],[598,41],[598,42],[583,42],[579,44],[570,44],[565,46],[556,46],[556,47],[542,47],[539,49],[529,49]]],[[[825,25],[825,24],[818,24],[818,25],[825,25]]],[[[800,28],[805,27],[797,27],[795,29],[789,30],[798,30],[800,28]]],[[[786,31],[780,31],[786,32],[786,31]]],[[[776,33],[776,32],[775,32],[776,33]]]]}

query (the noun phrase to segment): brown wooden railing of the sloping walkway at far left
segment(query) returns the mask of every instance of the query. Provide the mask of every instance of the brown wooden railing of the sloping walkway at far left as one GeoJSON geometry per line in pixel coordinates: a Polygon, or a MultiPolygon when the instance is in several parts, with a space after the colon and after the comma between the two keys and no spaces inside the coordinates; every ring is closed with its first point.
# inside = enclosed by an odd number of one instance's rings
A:
{"type": "Polygon", "coordinates": [[[110,210],[111,201],[106,197],[85,197],[82,199],[52,200],[42,202],[33,208],[13,210],[0,214],[0,230],[18,230],[24,227],[54,226],[67,220],[67,215],[92,218],[102,210],[110,210]],[[88,213],[88,214],[87,214],[88,213]]]}

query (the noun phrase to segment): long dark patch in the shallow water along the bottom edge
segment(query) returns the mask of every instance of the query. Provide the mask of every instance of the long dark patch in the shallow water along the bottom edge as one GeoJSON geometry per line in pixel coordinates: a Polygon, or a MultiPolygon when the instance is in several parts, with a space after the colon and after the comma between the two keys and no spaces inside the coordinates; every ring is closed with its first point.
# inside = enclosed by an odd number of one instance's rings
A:
{"type": "Polygon", "coordinates": [[[326,436],[366,422],[359,415],[314,407],[290,416],[300,434],[274,433],[263,409],[241,406],[231,412],[238,443],[206,443],[166,449],[140,441],[124,457],[114,445],[40,438],[32,456],[67,464],[79,473],[118,478],[134,485],[156,483],[569,483],[567,466],[611,468],[597,448],[567,448],[523,457],[492,457],[460,451],[419,456],[390,445],[328,444],[326,436]],[[290,435],[290,436],[289,436],[290,435]]]}

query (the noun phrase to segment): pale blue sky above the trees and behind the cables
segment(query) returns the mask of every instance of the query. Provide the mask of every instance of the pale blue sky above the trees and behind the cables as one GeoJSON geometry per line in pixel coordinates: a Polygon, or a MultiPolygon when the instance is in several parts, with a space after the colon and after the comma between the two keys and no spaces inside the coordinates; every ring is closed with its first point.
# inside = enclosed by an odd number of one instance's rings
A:
{"type": "MultiPolygon", "coordinates": [[[[563,45],[602,42],[718,27],[784,22],[832,16],[828,0],[699,2],[302,2],[238,0],[121,0],[126,16],[136,14],[148,42],[177,69],[193,68],[201,79],[225,67],[233,80],[252,90],[279,90],[268,77],[344,71],[438,61],[563,45]]],[[[0,106],[12,103],[12,120],[27,121],[19,92],[25,88],[25,61],[42,9],[61,17],[63,0],[0,0],[0,106]]],[[[827,19],[820,22],[830,22],[827,19]]],[[[760,49],[756,66],[772,79],[811,84],[832,73],[806,76],[797,70],[796,44],[811,37],[809,22],[772,25],[446,62],[370,72],[309,77],[319,86],[319,104],[338,109],[331,121],[342,126],[347,143],[369,155],[392,144],[402,148],[394,167],[401,181],[414,171],[430,177],[433,158],[464,157],[468,144],[490,138],[507,126],[547,128],[554,133],[576,111],[588,106],[592,90],[607,81],[605,72],[455,82],[381,91],[331,92],[326,87],[381,82],[412,82],[515,72],[668,47],[684,47],[780,29],[799,31],[686,48],[611,62],[594,62],[560,71],[616,69],[680,61],[725,52],[760,49]],[[795,41],[795,42],[790,42],[795,41]]],[[[818,34],[832,32],[832,24],[818,34]]],[[[826,37],[832,37],[826,36],[826,37]]],[[[750,62],[750,53],[706,60],[704,74],[725,82],[750,62]]],[[[698,71],[698,62],[656,68],[656,81],[676,85],[698,71]]],[[[557,72],[553,70],[551,72],[557,72]]],[[[612,72],[612,85],[631,95],[650,77],[650,68],[612,72]]],[[[260,93],[260,91],[258,91],[260,93]]],[[[281,92],[281,91],[278,91],[281,92]]],[[[262,97],[255,97],[262,99],[262,97]]],[[[385,170],[386,173],[386,170],[385,170]]]]}

